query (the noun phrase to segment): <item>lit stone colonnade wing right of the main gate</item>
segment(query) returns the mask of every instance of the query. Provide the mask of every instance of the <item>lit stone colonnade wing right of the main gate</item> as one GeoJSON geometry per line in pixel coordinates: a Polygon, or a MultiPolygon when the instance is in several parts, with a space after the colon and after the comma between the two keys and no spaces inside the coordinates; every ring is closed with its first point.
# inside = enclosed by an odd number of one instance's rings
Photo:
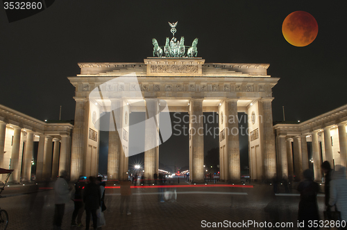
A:
{"type": "Polygon", "coordinates": [[[314,179],[321,181],[323,161],[329,161],[332,168],[347,167],[346,125],[347,105],[302,123],[274,125],[279,177],[298,181],[303,179],[303,170],[312,168],[314,179]]]}

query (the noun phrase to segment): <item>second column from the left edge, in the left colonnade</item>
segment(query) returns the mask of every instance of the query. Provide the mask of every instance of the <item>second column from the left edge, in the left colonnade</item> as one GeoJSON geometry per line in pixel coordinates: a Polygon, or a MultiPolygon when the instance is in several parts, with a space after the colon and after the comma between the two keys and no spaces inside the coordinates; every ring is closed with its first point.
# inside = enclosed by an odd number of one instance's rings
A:
{"type": "Polygon", "coordinates": [[[13,144],[12,144],[12,152],[11,152],[11,166],[10,169],[13,169],[12,174],[10,175],[10,179],[8,182],[12,183],[19,183],[19,174],[21,172],[20,170],[20,163],[19,163],[19,147],[21,143],[21,128],[20,127],[14,127],[14,134],[13,134],[13,144]]]}

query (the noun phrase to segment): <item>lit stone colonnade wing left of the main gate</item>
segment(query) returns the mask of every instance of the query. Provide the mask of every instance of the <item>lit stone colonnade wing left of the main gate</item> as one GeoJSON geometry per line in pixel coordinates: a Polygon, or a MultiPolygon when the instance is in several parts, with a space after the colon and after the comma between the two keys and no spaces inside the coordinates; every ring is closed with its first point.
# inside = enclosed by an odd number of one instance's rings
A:
{"type": "MultiPolygon", "coordinates": [[[[73,127],[46,123],[0,105],[0,168],[13,170],[8,182],[49,181],[60,170],[69,171],[73,127]]],[[[5,179],[6,175],[0,177],[1,182],[5,179]]]]}

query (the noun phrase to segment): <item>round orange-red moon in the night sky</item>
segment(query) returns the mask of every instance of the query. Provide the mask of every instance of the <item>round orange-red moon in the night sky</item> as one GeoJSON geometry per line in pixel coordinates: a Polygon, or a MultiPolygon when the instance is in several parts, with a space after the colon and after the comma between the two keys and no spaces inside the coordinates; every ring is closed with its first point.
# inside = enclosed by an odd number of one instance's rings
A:
{"type": "Polygon", "coordinates": [[[308,12],[295,11],[289,14],[282,24],[282,33],[293,46],[307,46],[316,39],[318,24],[308,12]]]}

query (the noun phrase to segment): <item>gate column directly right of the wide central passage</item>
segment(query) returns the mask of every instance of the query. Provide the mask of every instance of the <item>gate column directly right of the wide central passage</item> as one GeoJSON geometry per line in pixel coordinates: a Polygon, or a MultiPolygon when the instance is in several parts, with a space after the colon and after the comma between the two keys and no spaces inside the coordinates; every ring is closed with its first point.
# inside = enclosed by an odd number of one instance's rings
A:
{"type": "Polygon", "coordinates": [[[194,98],[190,100],[190,127],[192,143],[192,172],[194,182],[204,181],[204,168],[203,168],[203,98],[194,98]]]}

